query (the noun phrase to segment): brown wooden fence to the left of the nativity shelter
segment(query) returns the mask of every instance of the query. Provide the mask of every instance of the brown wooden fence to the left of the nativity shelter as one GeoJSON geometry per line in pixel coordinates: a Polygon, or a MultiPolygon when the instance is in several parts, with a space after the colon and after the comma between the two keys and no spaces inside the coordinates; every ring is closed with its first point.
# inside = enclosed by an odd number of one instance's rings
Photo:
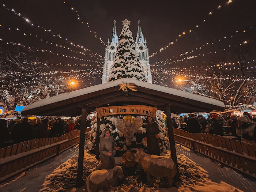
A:
{"type": "MultiPolygon", "coordinates": [[[[86,130],[86,139],[88,132],[86,130]]],[[[60,137],[31,139],[0,149],[0,182],[79,143],[80,130],[60,137]]]]}

